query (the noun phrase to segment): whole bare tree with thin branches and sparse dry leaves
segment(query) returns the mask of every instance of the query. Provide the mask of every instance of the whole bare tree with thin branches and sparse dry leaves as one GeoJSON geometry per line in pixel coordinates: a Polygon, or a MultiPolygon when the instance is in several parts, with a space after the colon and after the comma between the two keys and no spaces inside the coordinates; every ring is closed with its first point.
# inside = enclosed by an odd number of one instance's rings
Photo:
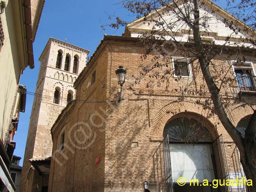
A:
{"type": "MultiPolygon", "coordinates": [[[[150,65],[143,65],[142,62],[140,76],[135,77],[135,82],[137,83],[148,75],[150,78],[147,84],[148,88],[165,83],[166,89],[168,89],[169,79],[174,74],[174,70],[170,70],[168,66],[173,62],[172,55],[177,53],[189,59],[189,63],[196,65],[194,68],[202,72],[208,87],[208,90],[202,89],[196,94],[204,96],[210,92],[211,97],[206,100],[205,105],[210,107],[213,103],[211,113],[217,114],[224,128],[234,140],[240,151],[240,160],[245,175],[254,183],[251,189],[256,191],[256,109],[251,103],[243,101],[241,98],[220,93],[226,83],[234,81],[234,79],[226,77],[226,74],[232,70],[232,63],[227,68],[217,70],[217,64],[212,62],[214,58],[222,57],[226,61],[236,58],[234,60],[237,63],[243,64],[248,59],[246,52],[255,55],[256,2],[254,0],[227,1],[226,10],[241,19],[242,22],[237,19],[229,19],[230,15],[228,18],[220,18],[226,27],[232,30],[232,33],[227,35],[221,44],[215,41],[205,42],[204,39],[205,36],[214,33],[211,31],[211,26],[217,24],[214,23],[216,20],[211,18],[211,14],[221,11],[220,7],[216,9],[216,5],[208,0],[126,0],[122,2],[122,5],[136,15],[138,20],[135,22],[147,23],[151,27],[150,30],[139,34],[140,42],[146,50],[141,58],[142,60],[146,59],[151,53],[154,53],[155,56],[150,65]],[[202,7],[207,10],[201,13],[202,7]],[[177,31],[183,31],[182,36],[177,35],[177,31]],[[237,38],[239,41],[232,40],[233,36],[239,37],[237,38]],[[232,52],[232,54],[225,54],[227,52],[232,52]],[[152,79],[156,79],[156,81],[152,79]],[[232,103],[229,99],[239,100],[241,103],[250,105],[254,111],[245,129],[245,137],[241,136],[228,116],[226,106],[232,103]]],[[[112,28],[134,23],[126,22],[119,17],[115,18],[116,22],[109,25],[112,28]]],[[[182,62],[180,63],[183,65],[182,62]]],[[[177,66],[176,71],[180,68],[182,66],[177,66]]],[[[197,72],[194,74],[193,78],[196,78],[197,72]]],[[[178,75],[181,76],[181,74],[178,75]]],[[[182,100],[184,99],[183,94],[187,92],[188,88],[180,89],[182,89],[182,94],[179,99],[182,100]]]]}

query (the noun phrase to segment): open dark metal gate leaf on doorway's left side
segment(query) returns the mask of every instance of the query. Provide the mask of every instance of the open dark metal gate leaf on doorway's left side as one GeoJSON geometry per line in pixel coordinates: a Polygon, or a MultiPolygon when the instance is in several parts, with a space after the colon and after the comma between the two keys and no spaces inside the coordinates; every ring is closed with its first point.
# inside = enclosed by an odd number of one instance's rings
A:
{"type": "Polygon", "coordinates": [[[165,159],[166,191],[173,192],[173,177],[172,177],[171,155],[170,155],[170,146],[169,146],[169,134],[167,134],[163,139],[163,154],[165,159]]]}

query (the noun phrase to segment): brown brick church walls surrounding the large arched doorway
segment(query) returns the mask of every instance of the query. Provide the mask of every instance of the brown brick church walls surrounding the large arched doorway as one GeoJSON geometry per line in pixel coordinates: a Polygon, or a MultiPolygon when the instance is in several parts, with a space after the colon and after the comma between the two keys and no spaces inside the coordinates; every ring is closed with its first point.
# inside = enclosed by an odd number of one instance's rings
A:
{"type": "MultiPolygon", "coordinates": [[[[145,88],[148,79],[133,84],[144,51],[138,41],[135,37],[105,36],[76,80],[78,101],[62,111],[51,129],[53,150],[48,191],[143,192],[144,181],[148,181],[152,191],[165,191],[163,136],[168,123],[175,120],[193,120],[207,130],[209,140],[205,144],[210,145],[216,178],[228,173],[243,174],[236,145],[217,116],[209,118],[208,109],[198,103],[207,97],[188,94],[184,101],[178,99],[182,92],[175,89],[186,86],[187,78],[177,82],[173,77],[170,92],[165,87],[149,91],[145,88]],[[119,65],[127,70],[121,106],[115,104],[120,89],[115,70],[119,65]]],[[[152,57],[143,62],[149,64],[152,57]]],[[[226,65],[221,59],[213,62],[220,67],[226,65]]],[[[256,67],[255,63],[253,66],[256,67]]],[[[234,78],[234,72],[229,76],[234,78]]],[[[204,84],[202,74],[195,82],[196,89],[204,84]]],[[[235,82],[226,89],[234,95],[239,92],[235,82]]],[[[250,102],[253,97],[243,95],[250,102]]],[[[229,110],[236,126],[253,113],[241,103],[229,110]]],[[[173,143],[176,144],[175,140],[173,143]]]]}

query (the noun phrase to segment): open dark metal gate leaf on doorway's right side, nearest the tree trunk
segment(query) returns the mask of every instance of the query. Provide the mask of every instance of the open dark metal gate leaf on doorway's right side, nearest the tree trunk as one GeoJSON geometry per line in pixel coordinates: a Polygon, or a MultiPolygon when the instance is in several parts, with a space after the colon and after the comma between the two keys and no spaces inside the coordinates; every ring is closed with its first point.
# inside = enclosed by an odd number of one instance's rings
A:
{"type": "MultiPolygon", "coordinates": [[[[224,147],[223,137],[220,135],[212,143],[213,154],[215,157],[216,179],[230,179],[228,172],[228,163],[226,160],[226,151],[224,147]]],[[[230,192],[232,188],[230,186],[219,186],[219,192],[230,192]]]]}

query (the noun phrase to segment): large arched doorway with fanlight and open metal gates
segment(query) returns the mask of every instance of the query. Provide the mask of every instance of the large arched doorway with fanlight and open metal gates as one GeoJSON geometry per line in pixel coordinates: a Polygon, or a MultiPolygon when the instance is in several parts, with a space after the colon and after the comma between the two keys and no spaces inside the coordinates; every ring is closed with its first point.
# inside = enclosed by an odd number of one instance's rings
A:
{"type": "Polygon", "coordinates": [[[169,153],[165,154],[167,192],[228,191],[210,186],[213,179],[228,179],[222,137],[213,140],[204,125],[188,117],[172,118],[165,125],[163,136],[164,151],[169,153]],[[180,177],[186,179],[184,186],[178,185],[180,177]],[[198,183],[190,185],[191,179],[198,183]],[[209,186],[202,185],[204,179],[208,180],[209,186]]]}

